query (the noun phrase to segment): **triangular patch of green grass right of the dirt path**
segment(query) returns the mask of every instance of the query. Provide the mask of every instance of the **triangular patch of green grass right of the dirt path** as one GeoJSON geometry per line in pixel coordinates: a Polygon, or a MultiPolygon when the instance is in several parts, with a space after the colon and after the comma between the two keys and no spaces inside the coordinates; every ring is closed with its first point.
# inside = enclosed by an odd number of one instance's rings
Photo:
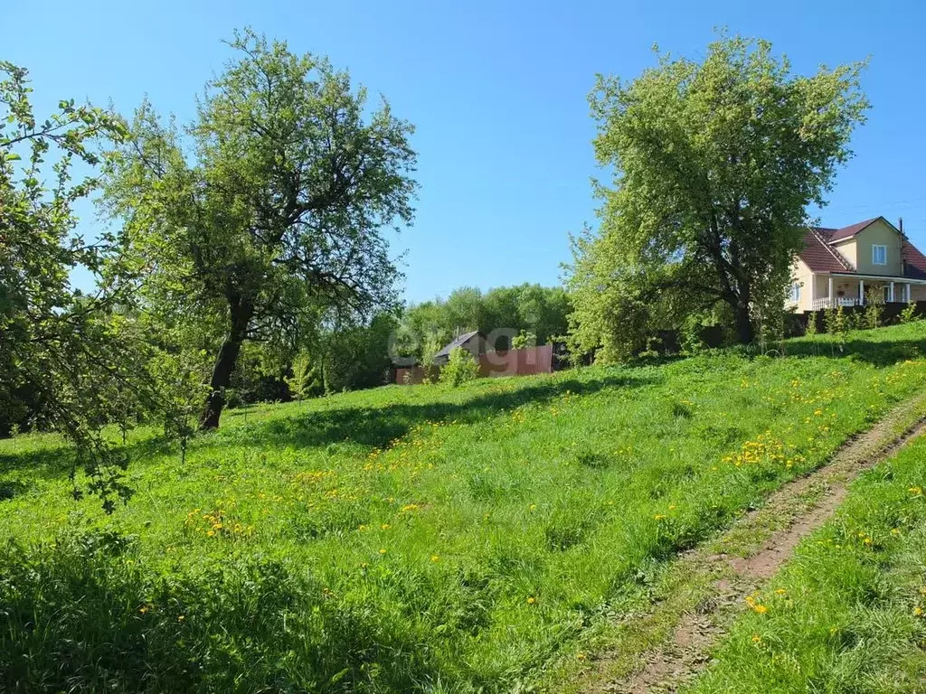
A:
{"type": "Polygon", "coordinates": [[[859,477],[691,691],[921,692],[926,439],[859,477]]]}

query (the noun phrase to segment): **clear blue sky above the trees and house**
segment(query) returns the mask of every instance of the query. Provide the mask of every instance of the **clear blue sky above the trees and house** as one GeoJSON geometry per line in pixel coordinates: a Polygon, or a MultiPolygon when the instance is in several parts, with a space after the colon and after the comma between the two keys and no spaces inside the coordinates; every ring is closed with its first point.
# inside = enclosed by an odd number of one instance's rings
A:
{"type": "Polygon", "coordinates": [[[871,57],[873,108],[840,171],[824,226],[904,217],[926,250],[926,10],[918,3],[732,2],[65,2],[10,0],[0,57],[30,68],[38,105],[145,93],[190,118],[194,95],[250,25],[298,52],[327,54],[415,123],[421,184],[406,296],[534,281],[555,284],[568,232],[594,222],[594,74],[632,78],[653,43],[703,55],[712,28],[774,43],[795,71],[871,57]]]}

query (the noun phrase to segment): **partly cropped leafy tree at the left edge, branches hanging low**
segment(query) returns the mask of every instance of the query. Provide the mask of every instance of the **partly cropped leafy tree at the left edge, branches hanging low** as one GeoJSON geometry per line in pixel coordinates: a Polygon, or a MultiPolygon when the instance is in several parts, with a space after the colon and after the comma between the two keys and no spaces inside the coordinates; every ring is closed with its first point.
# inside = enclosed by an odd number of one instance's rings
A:
{"type": "Polygon", "coordinates": [[[166,365],[131,314],[131,272],[103,272],[105,259],[121,263],[114,240],[84,241],[74,204],[97,188],[97,147],[127,132],[114,114],[72,100],[40,121],[30,94],[27,70],[0,62],[0,411],[18,417],[7,426],[53,429],[74,443],[89,489],[112,511],[112,494],[130,493],[121,482],[127,459],[102,428],[164,414],[156,372],[166,365]],[[91,176],[74,182],[76,163],[91,176]],[[93,293],[71,287],[77,266],[94,273],[93,293]]]}

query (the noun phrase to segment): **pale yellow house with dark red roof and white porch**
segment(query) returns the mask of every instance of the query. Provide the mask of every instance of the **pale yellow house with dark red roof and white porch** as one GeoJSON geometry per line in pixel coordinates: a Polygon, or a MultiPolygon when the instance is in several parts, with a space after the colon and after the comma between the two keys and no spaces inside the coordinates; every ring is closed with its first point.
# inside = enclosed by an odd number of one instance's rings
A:
{"type": "Polygon", "coordinates": [[[926,256],[884,217],[843,229],[810,227],[797,254],[787,306],[801,313],[836,306],[926,300],[926,256]]]}

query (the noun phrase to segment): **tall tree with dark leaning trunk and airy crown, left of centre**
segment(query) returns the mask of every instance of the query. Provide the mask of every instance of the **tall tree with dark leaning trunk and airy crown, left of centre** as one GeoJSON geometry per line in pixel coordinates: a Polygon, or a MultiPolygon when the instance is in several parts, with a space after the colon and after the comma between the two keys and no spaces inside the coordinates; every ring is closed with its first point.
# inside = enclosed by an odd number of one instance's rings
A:
{"type": "Polygon", "coordinates": [[[382,229],[410,223],[416,190],[412,127],[385,101],[369,112],[346,72],[253,31],[230,44],[188,139],[142,105],[106,188],[146,305],[215,353],[202,428],[219,426],[244,341],[394,304],[382,229]]]}

